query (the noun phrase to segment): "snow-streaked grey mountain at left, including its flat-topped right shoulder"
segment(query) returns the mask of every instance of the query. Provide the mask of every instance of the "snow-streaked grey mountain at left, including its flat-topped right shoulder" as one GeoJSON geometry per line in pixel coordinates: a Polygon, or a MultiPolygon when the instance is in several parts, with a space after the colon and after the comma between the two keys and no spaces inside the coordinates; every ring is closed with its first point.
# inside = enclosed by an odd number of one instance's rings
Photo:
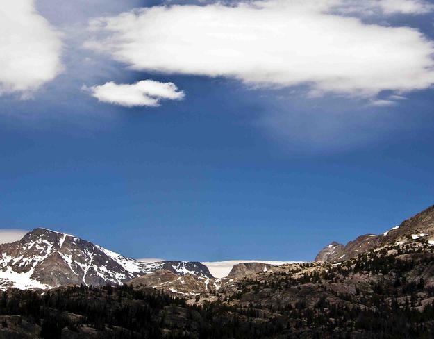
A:
{"type": "Polygon", "coordinates": [[[34,229],[22,240],[0,245],[0,289],[120,284],[157,270],[212,278],[208,267],[198,262],[142,263],[48,229],[34,229]]]}

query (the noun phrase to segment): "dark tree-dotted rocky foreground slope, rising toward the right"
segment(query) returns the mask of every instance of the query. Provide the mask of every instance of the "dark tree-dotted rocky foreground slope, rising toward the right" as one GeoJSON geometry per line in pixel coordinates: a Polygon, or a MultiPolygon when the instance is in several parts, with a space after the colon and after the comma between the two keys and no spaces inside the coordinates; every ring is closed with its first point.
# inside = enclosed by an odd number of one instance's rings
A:
{"type": "Polygon", "coordinates": [[[244,263],[233,279],[162,269],[115,288],[0,291],[0,331],[33,325],[35,339],[53,338],[49,326],[60,339],[433,338],[433,238],[428,208],[382,235],[332,243],[325,255],[354,255],[335,263],[244,263]]]}

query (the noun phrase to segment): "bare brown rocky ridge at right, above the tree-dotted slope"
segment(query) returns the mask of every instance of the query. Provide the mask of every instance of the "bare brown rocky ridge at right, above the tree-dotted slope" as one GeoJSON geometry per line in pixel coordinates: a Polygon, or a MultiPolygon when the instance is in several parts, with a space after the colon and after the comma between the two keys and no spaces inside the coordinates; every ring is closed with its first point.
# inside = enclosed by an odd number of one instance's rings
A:
{"type": "Polygon", "coordinates": [[[347,245],[332,242],[317,254],[315,261],[345,261],[371,249],[387,245],[405,245],[417,239],[434,245],[434,206],[430,206],[381,235],[361,235],[356,240],[348,242],[347,245]]]}

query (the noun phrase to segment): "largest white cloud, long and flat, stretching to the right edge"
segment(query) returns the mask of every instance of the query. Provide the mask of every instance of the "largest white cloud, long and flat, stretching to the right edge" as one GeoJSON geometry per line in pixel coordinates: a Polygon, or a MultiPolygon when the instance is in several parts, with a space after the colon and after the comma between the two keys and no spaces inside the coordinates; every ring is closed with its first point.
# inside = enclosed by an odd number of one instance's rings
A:
{"type": "MultiPolygon", "coordinates": [[[[268,0],[141,8],[93,19],[90,29],[98,38],[85,46],[132,69],[225,76],[261,86],[308,84],[315,93],[374,96],[431,86],[433,42],[413,28],[331,13],[351,3],[268,0]]],[[[376,1],[388,12],[399,3],[420,1],[376,1]]],[[[372,10],[372,2],[365,9],[372,10]]]]}

